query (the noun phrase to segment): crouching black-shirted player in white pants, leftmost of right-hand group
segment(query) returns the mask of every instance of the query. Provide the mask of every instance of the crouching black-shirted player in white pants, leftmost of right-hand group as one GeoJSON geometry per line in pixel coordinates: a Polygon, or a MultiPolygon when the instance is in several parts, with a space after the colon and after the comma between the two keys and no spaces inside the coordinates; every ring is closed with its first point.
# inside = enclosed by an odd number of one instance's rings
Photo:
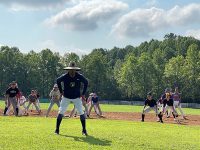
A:
{"type": "Polygon", "coordinates": [[[142,122],[144,122],[144,117],[145,117],[145,114],[150,112],[151,110],[154,110],[155,113],[156,113],[156,116],[158,117],[159,121],[161,123],[163,123],[162,121],[162,115],[161,113],[158,113],[158,108],[157,108],[157,103],[156,101],[152,98],[152,95],[151,93],[148,93],[147,94],[147,99],[145,100],[145,103],[144,103],[144,108],[143,108],[143,111],[142,111],[142,122]],[[148,107],[147,107],[148,106],[148,107]],[[146,108],[147,107],[147,108],[146,108]]]}

